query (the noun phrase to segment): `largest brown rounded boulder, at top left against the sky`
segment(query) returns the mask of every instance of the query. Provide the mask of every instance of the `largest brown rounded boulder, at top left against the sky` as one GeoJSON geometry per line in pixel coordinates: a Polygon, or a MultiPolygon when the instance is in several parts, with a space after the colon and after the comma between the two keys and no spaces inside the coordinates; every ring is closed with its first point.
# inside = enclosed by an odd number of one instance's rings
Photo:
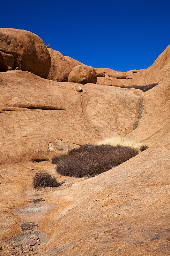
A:
{"type": "Polygon", "coordinates": [[[26,30],[1,28],[0,51],[11,53],[15,58],[13,69],[19,67],[20,70],[47,78],[51,58],[39,36],[26,30]]]}

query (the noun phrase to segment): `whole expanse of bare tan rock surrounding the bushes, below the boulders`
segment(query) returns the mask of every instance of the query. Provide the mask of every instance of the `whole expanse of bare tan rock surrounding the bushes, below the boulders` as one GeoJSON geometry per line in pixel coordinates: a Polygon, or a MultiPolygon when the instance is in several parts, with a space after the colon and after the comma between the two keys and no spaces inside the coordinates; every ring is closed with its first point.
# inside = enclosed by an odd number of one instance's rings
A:
{"type": "Polygon", "coordinates": [[[169,255],[167,58],[164,52],[154,70],[151,66],[122,80],[145,85],[159,79],[147,92],[90,83],[76,92],[80,84],[24,71],[0,73],[1,161],[11,162],[0,167],[0,256],[12,252],[12,244],[25,248],[33,235],[41,244],[26,256],[37,255],[36,250],[40,256],[169,255]],[[149,148],[98,176],[61,176],[48,161],[14,163],[50,158],[48,146],[54,141],[58,154],[57,147],[95,143],[124,126],[127,136],[149,148]],[[40,170],[54,174],[61,185],[34,189],[32,177],[40,170]]]}

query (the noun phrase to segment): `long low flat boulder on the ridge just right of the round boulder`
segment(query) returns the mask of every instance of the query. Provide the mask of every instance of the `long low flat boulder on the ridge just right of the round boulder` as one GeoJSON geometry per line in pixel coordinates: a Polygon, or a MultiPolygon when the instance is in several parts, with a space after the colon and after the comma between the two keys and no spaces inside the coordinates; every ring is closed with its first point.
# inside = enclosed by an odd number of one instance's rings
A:
{"type": "Polygon", "coordinates": [[[117,79],[126,79],[125,72],[115,71],[110,68],[95,68],[95,69],[98,77],[104,76],[104,73],[107,73],[109,77],[115,77],[117,79]]]}

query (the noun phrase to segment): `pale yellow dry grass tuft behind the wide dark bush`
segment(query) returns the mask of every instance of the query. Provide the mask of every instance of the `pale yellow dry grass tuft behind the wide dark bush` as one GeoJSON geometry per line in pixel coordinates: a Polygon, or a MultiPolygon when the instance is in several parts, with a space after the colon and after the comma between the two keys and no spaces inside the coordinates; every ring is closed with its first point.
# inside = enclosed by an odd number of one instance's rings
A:
{"type": "Polygon", "coordinates": [[[124,136],[116,136],[116,137],[111,137],[105,140],[100,140],[98,142],[98,145],[111,145],[111,146],[122,146],[122,147],[130,147],[130,148],[135,148],[140,152],[140,143],[137,140],[130,139],[128,137],[124,136]]]}

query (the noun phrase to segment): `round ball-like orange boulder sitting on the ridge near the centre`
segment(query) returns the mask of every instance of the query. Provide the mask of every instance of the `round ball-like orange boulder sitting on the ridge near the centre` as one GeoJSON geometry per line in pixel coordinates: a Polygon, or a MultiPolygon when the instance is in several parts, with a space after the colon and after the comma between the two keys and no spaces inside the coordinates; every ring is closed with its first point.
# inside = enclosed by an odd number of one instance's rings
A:
{"type": "Polygon", "coordinates": [[[73,70],[70,72],[69,82],[78,83],[78,84],[87,84],[87,83],[96,84],[97,82],[96,70],[90,66],[78,65],[74,67],[73,70]]]}

